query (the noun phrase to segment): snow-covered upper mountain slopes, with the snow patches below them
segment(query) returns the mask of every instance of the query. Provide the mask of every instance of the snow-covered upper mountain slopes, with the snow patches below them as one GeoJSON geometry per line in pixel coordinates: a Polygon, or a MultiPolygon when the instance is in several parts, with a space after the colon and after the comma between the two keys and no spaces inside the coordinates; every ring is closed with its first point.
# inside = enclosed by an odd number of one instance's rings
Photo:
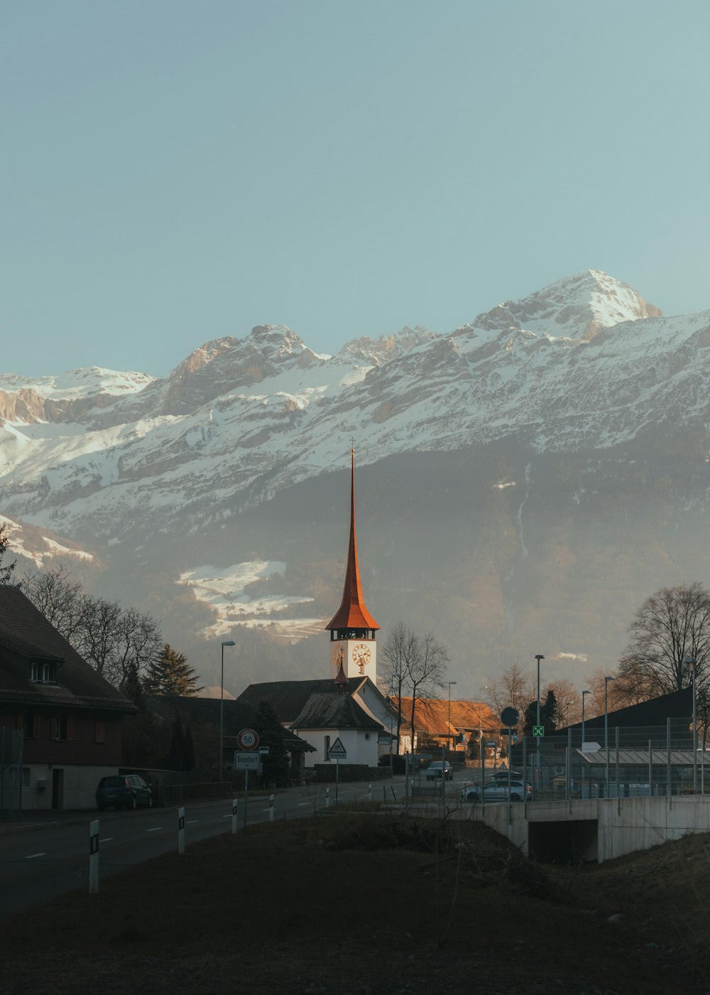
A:
{"type": "MultiPolygon", "coordinates": [[[[611,453],[669,425],[710,424],[709,348],[710,310],[664,317],[587,271],[449,334],[405,328],[335,355],[260,325],[206,342],[165,379],[0,375],[0,510],[110,559],[224,529],[342,471],[351,438],[361,467],[496,445],[611,453]]],[[[274,548],[270,560],[284,557],[274,548]]],[[[199,592],[211,566],[193,556],[174,572],[210,601],[199,592]]],[[[227,598],[237,616],[240,591],[227,598]]]]}

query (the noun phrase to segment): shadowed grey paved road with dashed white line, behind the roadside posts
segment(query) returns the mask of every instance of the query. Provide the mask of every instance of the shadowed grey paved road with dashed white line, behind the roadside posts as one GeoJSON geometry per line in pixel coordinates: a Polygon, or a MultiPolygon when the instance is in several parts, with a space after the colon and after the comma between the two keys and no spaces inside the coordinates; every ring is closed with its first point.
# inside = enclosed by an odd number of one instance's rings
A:
{"type": "MultiPolygon", "coordinates": [[[[464,777],[456,775],[461,783],[464,777]]],[[[470,777],[468,778],[470,781],[470,777]]],[[[417,779],[416,779],[417,783],[417,779]]],[[[427,782],[422,779],[422,785],[427,782]]],[[[330,785],[330,805],[336,787],[330,785]]],[[[432,787],[431,782],[429,787],[432,787]]],[[[458,796],[458,785],[450,797],[458,796]]],[[[375,782],[372,798],[403,799],[404,777],[375,782]]],[[[368,785],[340,784],[338,801],[366,802],[368,785]]],[[[232,830],[228,800],[185,803],[185,845],[232,830]]],[[[323,785],[298,787],[274,795],[274,820],[312,816],[326,807],[323,785]]],[[[76,889],[89,889],[89,825],[99,819],[100,878],[117,874],[153,857],[177,850],[178,806],[139,809],[136,812],[26,812],[21,824],[0,828],[0,919],[42,904],[76,889]]],[[[270,818],[268,796],[253,794],[246,807],[246,825],[270,818]]],[[[244,799],[238,804],[238,830],[245,829],[244,799]]]]}

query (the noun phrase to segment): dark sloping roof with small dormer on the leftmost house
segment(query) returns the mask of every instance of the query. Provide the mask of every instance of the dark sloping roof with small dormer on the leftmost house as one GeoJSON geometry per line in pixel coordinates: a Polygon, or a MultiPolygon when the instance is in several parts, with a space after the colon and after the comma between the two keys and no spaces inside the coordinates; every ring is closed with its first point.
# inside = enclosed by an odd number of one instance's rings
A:
{"type": "Polygon", "coordinates": [[[135,711],[20,588],[0,586],[0,699],[21,705],[135,711]],[[30,680],[32,661],[56,661],[56,683],[30,680]]]}

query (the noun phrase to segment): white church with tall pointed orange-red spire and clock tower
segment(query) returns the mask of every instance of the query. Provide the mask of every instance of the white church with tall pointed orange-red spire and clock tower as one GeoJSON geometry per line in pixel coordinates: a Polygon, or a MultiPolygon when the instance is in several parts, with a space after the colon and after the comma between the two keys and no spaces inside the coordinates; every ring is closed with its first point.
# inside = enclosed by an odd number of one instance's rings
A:
{"type": "Polygon", "coordinates": [[[355,534],[355,451],[351,450],[350,537],[340,607],[325,626],[330,633],[323,669],[313,681],[253,684],[238,700],[257,708],[266,699],[279,721],[314,747],[307,767],[335,765],[377,768],[394,753],[397,712],[377,687],[376,633],[380,626],[367,610],[360,582],[355,534]],[[393,736],[394,730],[394,736],[393,736]],[[331,748],[334,747],[331,756],[331,748]]]}

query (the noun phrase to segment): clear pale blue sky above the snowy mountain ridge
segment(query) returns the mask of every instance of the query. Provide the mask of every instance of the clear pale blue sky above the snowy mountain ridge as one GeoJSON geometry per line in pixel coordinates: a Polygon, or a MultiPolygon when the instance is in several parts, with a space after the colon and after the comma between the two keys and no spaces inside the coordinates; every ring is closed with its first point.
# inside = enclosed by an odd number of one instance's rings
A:
{"type": "Polygon", "coordinates": [[[0,370],[710,307],[705,0],[0,0],[0,370]]]}

